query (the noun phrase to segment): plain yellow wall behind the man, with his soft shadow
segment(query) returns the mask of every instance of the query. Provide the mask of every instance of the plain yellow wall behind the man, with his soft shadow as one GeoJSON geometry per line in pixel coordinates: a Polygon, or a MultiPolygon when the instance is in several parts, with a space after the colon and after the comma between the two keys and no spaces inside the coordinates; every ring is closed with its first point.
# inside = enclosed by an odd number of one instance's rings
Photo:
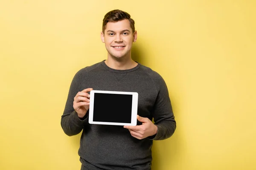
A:
{"type": "Polygon", "coordinates": [[[79,170],[80,134],[61,115],[76,71],[106,59],[102,19],[116,8],[176,116],[153,170],[255,170],[255,0],[0,0],[0,170],[79,170]]]}

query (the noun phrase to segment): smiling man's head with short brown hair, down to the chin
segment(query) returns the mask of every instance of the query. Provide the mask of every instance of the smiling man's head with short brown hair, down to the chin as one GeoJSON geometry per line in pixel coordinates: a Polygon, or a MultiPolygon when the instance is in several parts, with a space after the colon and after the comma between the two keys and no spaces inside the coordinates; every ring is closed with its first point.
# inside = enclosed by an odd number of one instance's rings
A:
{"type": "Polygon", "coordinates": [[[121,10],[109,11],[103,19],[101,39],[108,57],[131,57],[131,46],[137,40],[137,31],[130,14],[121,10]]]}

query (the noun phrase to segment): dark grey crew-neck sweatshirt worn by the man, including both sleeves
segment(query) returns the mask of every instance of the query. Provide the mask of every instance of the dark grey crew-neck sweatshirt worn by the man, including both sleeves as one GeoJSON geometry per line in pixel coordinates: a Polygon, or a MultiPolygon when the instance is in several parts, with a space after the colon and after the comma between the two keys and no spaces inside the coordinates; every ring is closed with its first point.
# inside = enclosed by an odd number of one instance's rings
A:
{"type": "MultiPolygon", "coordinates": [[[[108,108],[105,112],[108,114],[108,108]]],[[[141,123],[137,121],[137,125],[141,123]]],[[[68,136],[83,130],[79,156],[84,170],[149,170],[153,140],[172,136],[176,122],[166,83],[157,72],[140,63],[128,70],[115,70],[102,61],[76,73],[61,116],[61,127],[68,136]],[[137,92],[138,115],[154,118],[157,134],[139,140],[123,126],[89,124],[89,111],[80,119],[74,111],[73,100],[86,88],[137,92]]]]}

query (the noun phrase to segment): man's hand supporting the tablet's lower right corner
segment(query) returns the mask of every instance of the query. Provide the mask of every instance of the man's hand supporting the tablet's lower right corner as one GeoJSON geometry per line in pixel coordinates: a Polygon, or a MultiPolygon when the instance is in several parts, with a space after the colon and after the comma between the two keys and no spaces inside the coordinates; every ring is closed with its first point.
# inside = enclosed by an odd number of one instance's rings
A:
{"type": "Polygon", "coordinates": [[[131,136],[137,139],[144,139],[148,136],[157,134],[157,126],[151,122],[148,118],[137,115],[138,121],[142,122],[142,125],[137,126],[124,126],[131,133],[131,136]]]}

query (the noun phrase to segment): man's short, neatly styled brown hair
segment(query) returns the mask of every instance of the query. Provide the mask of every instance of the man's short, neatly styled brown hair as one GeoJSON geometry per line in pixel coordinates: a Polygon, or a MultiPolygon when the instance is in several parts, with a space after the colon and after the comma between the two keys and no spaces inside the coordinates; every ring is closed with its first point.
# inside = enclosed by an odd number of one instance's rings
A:
{"type": "Polygon", "coordinates": [[[103,23],[102,23],[103,34],[104,34],[104,31],[106,29],[106,25],[108,22],[117,22],[117,21],[121,21],[121,20],[125,20],[125,19],[129,20],[132,32],[134,33],[135,32],[135,26],[134,26],[135,22],[133,19],[131,19],[131,15],[125,11],[115,9],[115,10],[109,11],[107,14],[105,14],[105,17],[104,17],[103,23]]]}

